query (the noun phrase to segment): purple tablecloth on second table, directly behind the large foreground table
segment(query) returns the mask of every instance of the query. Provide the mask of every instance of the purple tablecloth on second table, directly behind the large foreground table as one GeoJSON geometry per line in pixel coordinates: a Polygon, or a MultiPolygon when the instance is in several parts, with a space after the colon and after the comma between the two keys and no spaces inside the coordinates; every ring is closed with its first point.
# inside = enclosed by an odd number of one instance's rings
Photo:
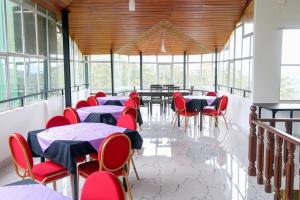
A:
{"type": "Polygon", "coordinates": [[[91,113],[99,113],[99,114],[111,114],[116,120],[119,119],[122,111],[125,107],[123,106],[110,106],[110,105],[100,105],[100,106],[90,106],[90,107],[83,107],[77,109],[77,113],[79,115],[80,121],[84,122],[84,120],[91,114],[91,113]]]}

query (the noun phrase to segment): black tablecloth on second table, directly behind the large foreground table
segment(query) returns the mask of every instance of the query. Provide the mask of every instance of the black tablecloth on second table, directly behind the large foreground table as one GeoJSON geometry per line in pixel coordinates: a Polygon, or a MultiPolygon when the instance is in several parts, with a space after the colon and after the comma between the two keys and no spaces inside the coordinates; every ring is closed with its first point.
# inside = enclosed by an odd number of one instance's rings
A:
{"type": "MultiPolygon", "coordinates": [[[[84,122],[92,122],[92,123],[105,123],[110,125],[116,125],[117,120],[110,113],[91,113],[84,120],[84,122]]],[[[143,119],[141,115],[140,109],[137,109],[137,122],[139,125],[143,124],[143,119]]]]}

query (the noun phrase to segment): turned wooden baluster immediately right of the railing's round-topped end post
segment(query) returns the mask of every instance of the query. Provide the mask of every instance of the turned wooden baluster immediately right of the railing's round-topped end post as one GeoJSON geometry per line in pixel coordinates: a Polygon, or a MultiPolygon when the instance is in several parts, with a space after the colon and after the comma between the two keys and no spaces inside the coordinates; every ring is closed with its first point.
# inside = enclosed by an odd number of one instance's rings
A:
{"type": "Polygon", "coordinates": [[[263,184],[263,169],[264,169],[264,134],[265,129],[258,128],[258,145],[257,145],[257,183],[263,184]]]}

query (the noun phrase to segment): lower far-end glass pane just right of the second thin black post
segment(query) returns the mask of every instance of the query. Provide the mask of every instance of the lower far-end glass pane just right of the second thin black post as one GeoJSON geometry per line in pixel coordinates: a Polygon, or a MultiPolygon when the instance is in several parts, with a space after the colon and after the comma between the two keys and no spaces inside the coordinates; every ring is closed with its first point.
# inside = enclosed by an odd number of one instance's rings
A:
{"type": "Polygon", "coordinates": [[[143,88],[149,89],[151,84],[157,84],[156,64],[143,64],[143,88]]]}

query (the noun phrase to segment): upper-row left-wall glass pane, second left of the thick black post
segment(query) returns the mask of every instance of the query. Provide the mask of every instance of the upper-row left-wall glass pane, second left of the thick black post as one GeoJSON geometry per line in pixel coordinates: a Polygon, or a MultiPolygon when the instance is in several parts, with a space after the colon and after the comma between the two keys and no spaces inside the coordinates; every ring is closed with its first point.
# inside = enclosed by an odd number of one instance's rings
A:
{"type": "Polygon", "coordinates": [[[38,15],[37,23],[38,23],[37,25],[38,25],[39,55],[47,55],[46,18],[38,15]]]}

